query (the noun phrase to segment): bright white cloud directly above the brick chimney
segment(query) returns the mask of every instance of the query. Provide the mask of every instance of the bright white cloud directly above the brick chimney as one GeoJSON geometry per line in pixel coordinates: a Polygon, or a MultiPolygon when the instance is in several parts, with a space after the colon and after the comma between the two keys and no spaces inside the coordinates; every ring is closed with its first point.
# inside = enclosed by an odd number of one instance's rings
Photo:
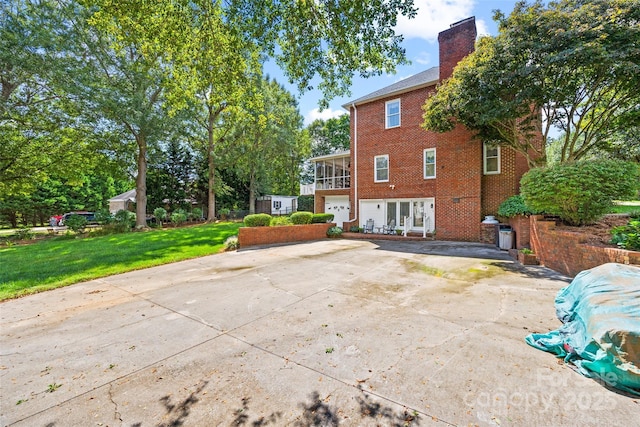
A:
{"type": "Polygon", "coordinates": [[[415,0],[414,5],[418,8],[416,17],[398,17],[396,33],[402,34],[405,39],[419,38],[434,42],[438,33],[449,28],[450,24],[470,17],[474,3],[474,0],[415,0]]]}

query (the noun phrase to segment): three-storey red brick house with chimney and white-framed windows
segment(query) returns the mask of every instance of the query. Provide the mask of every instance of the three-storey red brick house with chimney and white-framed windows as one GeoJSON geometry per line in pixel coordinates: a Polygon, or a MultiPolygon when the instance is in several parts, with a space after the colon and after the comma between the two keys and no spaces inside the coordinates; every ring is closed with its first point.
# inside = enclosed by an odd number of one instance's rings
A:
{"type": "Polygon", "coordinates": [[[518,194],[526,159],[461,125],[442,134],[420,127],[425,99],[475,40],[475,18],[452,24],[438,35],[439,67],[343,106],[351,114],[351,149],[312,159],[316,212],[334,213],[346,230],[373,219],[376,227],[393,221],[412,233],[436,231],[442,240],[482,240],[482,219],[518,194]]]}

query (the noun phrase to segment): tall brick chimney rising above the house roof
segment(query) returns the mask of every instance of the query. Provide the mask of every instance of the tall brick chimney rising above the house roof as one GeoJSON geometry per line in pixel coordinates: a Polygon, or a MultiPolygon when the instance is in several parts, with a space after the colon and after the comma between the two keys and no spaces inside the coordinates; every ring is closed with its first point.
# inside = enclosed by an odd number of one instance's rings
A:
{"type": "Polygon", "coordinates": [[[477,34],[475,16],[451,24],[438,34],[440,81],[449,78],[458,62],[474,51],[477,34]]]}

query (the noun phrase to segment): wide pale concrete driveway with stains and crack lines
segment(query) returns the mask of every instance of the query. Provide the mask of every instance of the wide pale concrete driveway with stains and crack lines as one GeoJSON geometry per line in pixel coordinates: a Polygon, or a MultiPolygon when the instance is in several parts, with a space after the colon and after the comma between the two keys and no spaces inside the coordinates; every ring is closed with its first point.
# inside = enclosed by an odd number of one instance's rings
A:
{"type": "Polygon", "coordinates": [[[637,425],[523,338],[567,279],[479,244],[325,240],[0,304],[3,426],[637,425]]]}

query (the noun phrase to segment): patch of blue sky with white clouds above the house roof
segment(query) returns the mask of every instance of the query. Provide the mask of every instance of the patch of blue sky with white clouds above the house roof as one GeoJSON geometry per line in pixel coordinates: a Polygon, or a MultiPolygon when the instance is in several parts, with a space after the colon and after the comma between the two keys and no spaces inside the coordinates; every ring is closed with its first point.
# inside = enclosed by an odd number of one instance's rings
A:
{"type": "Polygon", "coordinates": [[[267,65],[265,71],[297,96],[306,126],[315,119],[327,120],[345,114],[347,111],[342,108],[343,104],[437,66],[438,33],[454,22],[475,16],[478,35],[496,35],[493,11],[499,9],[508,15],[515,3],[516,0],[414,0],[414,5],[418,8],[416,18],[408,20],[401,17],[396,26],[396,33],[404,36],[402,45],[411,64],[398,66],[395,74],[382,74],[368,79],[354,76],[351,94],[334,98],[330,101],[329,108],[323,111],[318,108],[318,101],[321,99],[319,91],[311,90],[300,95],[275,65],[267,65]]]}

